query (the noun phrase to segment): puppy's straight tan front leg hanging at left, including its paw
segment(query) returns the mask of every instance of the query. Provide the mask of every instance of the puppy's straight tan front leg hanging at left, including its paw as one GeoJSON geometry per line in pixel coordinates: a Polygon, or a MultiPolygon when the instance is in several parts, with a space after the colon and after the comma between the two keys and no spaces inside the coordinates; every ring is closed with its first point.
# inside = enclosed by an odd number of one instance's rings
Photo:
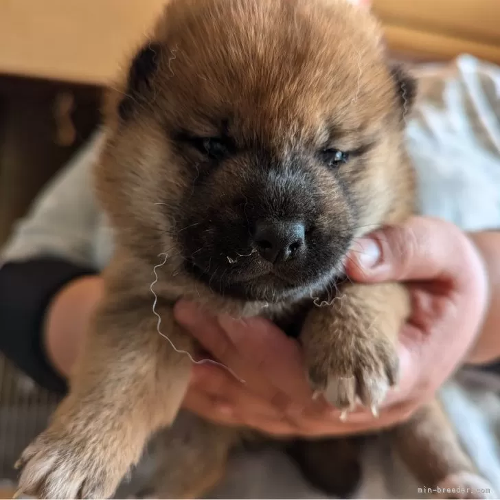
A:
{"type": "MultiPolygon", "coordinates": [[[[102,304],[69,395],[19,461],[19,488],[26,494],[110,497],[151,433],[177,415],[191,362],[157,334],[150,308],[117,304],[117,297],[102,304]]],[[[158,312],[163,331],[190,350],[172,310],[158,312]]]]}

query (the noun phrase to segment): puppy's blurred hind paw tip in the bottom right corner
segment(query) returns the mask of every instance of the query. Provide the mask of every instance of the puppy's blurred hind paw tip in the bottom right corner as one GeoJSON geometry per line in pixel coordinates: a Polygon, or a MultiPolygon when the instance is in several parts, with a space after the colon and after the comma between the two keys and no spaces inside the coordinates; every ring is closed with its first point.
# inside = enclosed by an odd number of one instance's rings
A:
{"type": "Polygon", "coordinates": [[[496,499],[492,486],[483,477],[473,473],[452,474],[433,488],[436,499],[496,499]]]}

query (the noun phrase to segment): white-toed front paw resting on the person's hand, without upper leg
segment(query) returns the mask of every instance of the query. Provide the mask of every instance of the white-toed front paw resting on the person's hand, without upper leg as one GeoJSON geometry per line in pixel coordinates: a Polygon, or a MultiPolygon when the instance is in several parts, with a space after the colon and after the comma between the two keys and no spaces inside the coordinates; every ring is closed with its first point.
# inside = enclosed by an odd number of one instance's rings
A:
{"type": "Polygon", "coordinates": [[[352,333],[344,341],[306,347],[308,378],[315,394],[323,394],[343,411],[343,418],[357,402],[378,414],[390,387],[398,378],[398,356],[385,337],[352,333]]]}

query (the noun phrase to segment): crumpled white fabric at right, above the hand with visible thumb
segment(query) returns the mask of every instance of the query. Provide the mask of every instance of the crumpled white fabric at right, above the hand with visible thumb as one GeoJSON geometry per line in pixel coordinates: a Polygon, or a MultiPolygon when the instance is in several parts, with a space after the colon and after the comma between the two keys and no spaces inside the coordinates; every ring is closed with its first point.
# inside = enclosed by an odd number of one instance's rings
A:
{"type": "Polygon", "coordinates": [[[500,68],[471,56],[420,71],[408,124],[424,214],[473,231],[500,227],[500,68]]]}

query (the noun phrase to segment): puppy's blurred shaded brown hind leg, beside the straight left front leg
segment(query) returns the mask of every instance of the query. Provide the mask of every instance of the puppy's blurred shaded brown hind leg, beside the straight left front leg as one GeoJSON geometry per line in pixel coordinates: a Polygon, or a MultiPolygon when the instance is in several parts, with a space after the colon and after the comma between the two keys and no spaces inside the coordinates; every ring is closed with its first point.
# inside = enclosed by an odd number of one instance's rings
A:
{"type": "Polygon", "coordinates": [[[141,497],[202,497],[223,478],[229,450],[239,435],[236,428],[221,427],[181,412],[171,429],[155,437],[159,467],[151,488],[141,497]]]}

